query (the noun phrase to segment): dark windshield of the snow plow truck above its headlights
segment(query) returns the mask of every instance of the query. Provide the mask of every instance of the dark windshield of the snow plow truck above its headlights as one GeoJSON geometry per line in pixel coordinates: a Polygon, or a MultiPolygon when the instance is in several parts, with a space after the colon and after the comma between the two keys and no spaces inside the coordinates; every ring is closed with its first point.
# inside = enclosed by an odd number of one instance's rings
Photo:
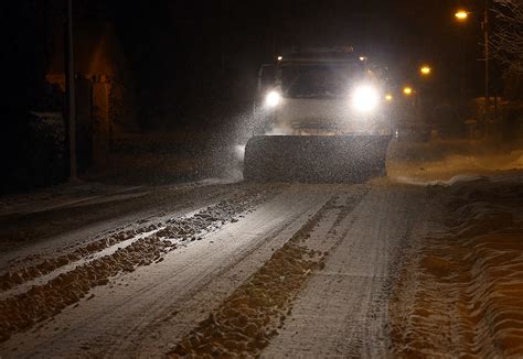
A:
{"type": "Polygon", "coordinates": [[[355,65],[282,66],[281,86],[288,97],[341,97],[361,74],[357,69],[355,65]]]}

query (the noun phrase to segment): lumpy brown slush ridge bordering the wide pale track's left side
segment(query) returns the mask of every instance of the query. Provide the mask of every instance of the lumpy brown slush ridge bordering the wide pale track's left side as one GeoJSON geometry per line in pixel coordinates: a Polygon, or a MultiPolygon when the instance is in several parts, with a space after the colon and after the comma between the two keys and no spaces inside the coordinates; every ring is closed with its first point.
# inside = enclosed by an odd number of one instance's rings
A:
{"type": "Polygon", "coordinates": [[[28,330],[36,323],[55,316],[86,296],[93,287],[107,284],[110,278],[160,262],[168,252],[183,246],[183,242],[196,240],[226,222],[237,221],[237,216],[265,202],[267,195],[250,191],[193,216],[171,219],[163,227],[154,226],[153,233],[139,238],[111,254],[77,265],[46,284],[32,286],[24,293],[0,301],[0,342],[8,340],[14,333],[28,330]]]}

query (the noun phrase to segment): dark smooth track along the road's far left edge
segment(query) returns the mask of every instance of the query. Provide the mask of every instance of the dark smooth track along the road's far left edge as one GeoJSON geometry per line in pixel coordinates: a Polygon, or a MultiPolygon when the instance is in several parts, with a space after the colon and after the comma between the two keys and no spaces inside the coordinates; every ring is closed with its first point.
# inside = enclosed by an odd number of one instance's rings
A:
{"type": "Polygon", "coordinates": [[[99,238],[140,228],[147,221],[166,220],[177,214],[180,217],[250,187],[248,184],[162,186],[143,198],[109,206],[89,206],[81,211],[44,213],[44,218],[24,218],[22,222],[9,221],[1,231],[0,273],[36,265],[43,259],[71,253],[99,238]],[[10,233],[24,239],[14,240],[10,233]]]}

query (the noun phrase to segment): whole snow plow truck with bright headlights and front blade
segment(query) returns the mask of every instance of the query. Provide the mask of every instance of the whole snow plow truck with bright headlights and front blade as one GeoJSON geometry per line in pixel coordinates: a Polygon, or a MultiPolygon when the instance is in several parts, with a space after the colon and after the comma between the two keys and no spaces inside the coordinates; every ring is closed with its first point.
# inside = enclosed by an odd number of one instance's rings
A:
{"type": "Polygon", "coordinates": [[[386,174],[386,75],[351,48],[278,56],[258,73],[246,181],[361,182],[386,174]]]}

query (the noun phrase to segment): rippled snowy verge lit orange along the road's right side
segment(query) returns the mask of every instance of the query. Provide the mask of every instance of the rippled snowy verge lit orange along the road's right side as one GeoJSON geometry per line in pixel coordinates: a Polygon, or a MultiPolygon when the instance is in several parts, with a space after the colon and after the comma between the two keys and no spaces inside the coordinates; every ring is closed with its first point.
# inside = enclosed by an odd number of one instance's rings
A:
{"type": "Polygon", "coordinates": [[[439,222],[389,303],[394,353],[523,356],[522,172],[428,191],[439,222]]]}

